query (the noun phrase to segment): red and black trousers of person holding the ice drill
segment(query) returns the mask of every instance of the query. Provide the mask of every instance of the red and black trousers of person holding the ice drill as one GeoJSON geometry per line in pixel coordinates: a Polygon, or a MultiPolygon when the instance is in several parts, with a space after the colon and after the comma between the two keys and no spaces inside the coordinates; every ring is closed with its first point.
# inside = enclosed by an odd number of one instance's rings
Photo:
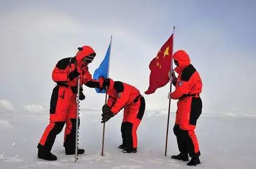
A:
{"type": "Polygon", "coordinates": [[[75,149],[76,113],[76,94],[68,86],[55,86],[50,102],[50,124],[46,127],[44,134],[42,134],[37,146],[38,149],[49,153],[56,135],[61,132],[66,123],[63,145],[66,151],[73,151],[75,149]]]}

